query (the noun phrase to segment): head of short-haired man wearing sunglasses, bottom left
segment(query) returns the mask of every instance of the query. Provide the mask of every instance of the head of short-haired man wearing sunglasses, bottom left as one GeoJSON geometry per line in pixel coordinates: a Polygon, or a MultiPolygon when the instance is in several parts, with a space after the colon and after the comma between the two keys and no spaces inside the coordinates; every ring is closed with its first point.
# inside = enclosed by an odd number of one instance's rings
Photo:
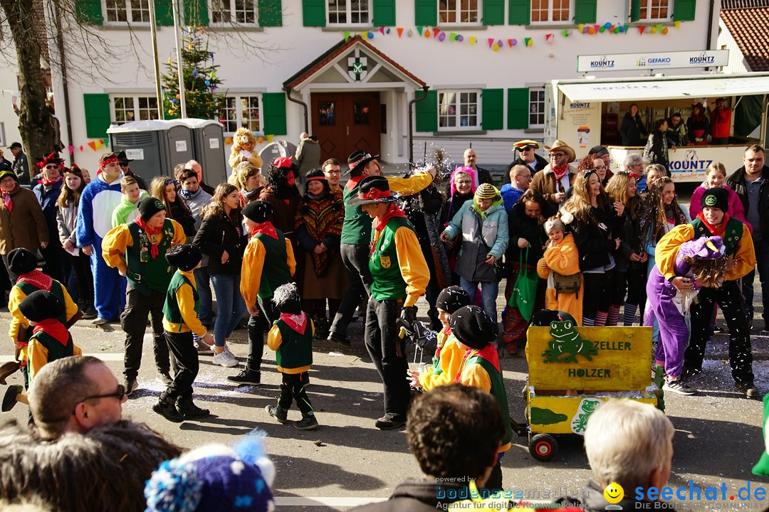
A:
{"type": "Polygon", "coordinates": [[[87,432],[122,418],[128,400],[100,359],[72,356],[44,365],[29,388],[29,411],[43,439],[58,439],[65,432],[87,432]]]}

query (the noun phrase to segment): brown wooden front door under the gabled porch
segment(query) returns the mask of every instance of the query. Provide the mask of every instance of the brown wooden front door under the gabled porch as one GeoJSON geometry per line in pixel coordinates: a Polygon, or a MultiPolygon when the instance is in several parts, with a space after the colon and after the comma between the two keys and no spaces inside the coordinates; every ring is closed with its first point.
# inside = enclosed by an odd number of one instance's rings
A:
{"type": "Polygon", "coordinates": [[[312,135],[321,145],[321,161],[336,158],[345,167],[355,150],[379,154],[378,92],[313,93],[312,135]]]}

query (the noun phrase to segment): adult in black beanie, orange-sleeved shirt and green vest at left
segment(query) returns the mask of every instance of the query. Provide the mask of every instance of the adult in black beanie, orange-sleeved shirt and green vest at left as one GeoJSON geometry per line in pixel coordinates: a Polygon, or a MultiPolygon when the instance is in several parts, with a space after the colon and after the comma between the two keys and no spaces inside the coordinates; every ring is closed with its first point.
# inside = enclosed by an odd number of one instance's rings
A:
{"type": "Polygon", "coordinates": [[[109,230],[102,240],[102,256],[108,266],[128,278],[125,309],[120,323],[125,332],[125,394],[137,388],[141,345],[151,315],[155,344],[155,366],[161,382],[171,384],[168,375],[168,344],[163,335],[163,304],[174,269],[165,259],[168,249],[185,243],[185,230],[165,217],[165,206],[155,197],[136,203],[139,216],[128,224],[109,230]]]}

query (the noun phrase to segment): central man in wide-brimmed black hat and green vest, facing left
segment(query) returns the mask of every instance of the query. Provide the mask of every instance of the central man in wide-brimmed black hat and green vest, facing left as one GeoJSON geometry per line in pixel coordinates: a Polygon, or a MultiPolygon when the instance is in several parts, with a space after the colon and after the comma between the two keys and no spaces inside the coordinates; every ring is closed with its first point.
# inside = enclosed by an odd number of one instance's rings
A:
{"type": "Polygon", "coordinates": [[[406,422],[409,388],[406,347],[398,338],[395,320],[417,319],[417,299],[424,294],[430,270],[424,260],[414,228],[395,204],[387,178],[369,176],[361,180],[358,197],[348,206],[361,206],[374,220],[371,232],[371,297],[366,312],[365,342],[377,372],[384,382],[384,416],[375,425],[382,430],[406,422]]]}

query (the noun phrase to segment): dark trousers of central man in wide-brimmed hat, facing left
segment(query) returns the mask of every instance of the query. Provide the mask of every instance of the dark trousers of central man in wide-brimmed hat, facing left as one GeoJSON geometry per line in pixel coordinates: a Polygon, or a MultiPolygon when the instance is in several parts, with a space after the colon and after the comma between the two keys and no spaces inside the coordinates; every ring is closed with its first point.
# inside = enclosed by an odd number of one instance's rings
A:
{"type": "Polygon", "coordinates": [[[384,384],[384,416],[397,421],[406,419],[411,399],[406,381],[406,343],[398,338],[395,326],[401,306],[401,300],[368,299],[364,335],[368,355],[384,384]]]}

